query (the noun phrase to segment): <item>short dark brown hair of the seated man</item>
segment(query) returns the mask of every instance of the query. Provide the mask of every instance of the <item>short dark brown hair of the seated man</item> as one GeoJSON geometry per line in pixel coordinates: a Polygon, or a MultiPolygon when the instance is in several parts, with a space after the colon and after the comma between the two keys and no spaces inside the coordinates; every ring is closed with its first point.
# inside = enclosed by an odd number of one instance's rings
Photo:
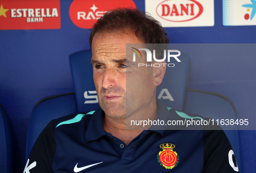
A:
{"type": "Polygon", "coordinates": [[[90,46],[97,32],[126,30],[132,31],[144,43],[169,43],[160,22],[149,14],[135,8],[118,8],[105,13],[94,23],[89,38],[90,46]]]}

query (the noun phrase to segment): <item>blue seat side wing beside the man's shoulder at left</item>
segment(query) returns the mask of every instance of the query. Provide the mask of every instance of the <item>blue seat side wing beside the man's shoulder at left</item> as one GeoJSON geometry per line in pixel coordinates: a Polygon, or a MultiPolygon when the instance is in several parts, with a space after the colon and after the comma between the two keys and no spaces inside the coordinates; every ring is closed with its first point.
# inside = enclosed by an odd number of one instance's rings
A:
{"type": "Polygon", "coordinates": [[[55,95],[40,100],[32,110],[26,140],[26,160],[39,134],[53,119],[78,113],[75,93],[55,95]]]}

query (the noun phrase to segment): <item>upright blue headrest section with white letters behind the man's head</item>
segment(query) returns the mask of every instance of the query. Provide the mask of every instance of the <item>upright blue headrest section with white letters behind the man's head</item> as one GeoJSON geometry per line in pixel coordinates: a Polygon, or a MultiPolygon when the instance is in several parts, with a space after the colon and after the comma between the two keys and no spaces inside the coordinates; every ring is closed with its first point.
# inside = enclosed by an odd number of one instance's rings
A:
{"type": "MultiPolygon", "coordinates": [[[[166,105],[176,110],[182,110],[185,91],[190,70],[190,58],[187,53],[181,52],[181,62],[171,60],[174,63],[166,67],[165,78],[157,87],[156,96],[166,105]]],[[[83,50],[69,56],[71,73],[75,87],[78,111],[91,111],[99,107],[96,90],[93,81],[93,69],[91,67],[91,50],[83,50]]],[[[169,64],[168,63],[168,64],[169,64]]]]}

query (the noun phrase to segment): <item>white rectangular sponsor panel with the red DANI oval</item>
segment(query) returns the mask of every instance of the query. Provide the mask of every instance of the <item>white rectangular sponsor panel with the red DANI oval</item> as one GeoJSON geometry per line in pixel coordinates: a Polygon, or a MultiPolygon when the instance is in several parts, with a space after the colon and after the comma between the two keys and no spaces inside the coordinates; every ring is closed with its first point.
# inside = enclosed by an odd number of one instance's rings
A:
{"type": "Polygon", "coordinates": [[[163,27],[214,25],[214,0],[145,0],[145,11],[163,27]]]}

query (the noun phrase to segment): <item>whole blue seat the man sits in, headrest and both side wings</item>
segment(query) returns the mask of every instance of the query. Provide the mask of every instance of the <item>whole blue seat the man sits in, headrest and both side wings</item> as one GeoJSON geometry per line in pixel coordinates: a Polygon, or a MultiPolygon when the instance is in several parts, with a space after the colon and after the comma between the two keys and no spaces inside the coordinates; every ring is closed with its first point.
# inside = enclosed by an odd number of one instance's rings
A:
{"type": "MultiPolygon", "coordinates": [[[[199,114],[205,117],[237,119],[232,102],[220,94],[188,90],[190,58],[181,52],[181,63],[172,60],[175,67],[166,69],[165,78],[156,91],[156,97],[175,110],[199,114]],[[217,108],[216,108],[217,107],[217,108]]],[[[91,50],[83,50],[69,56],[75,94],[46,98],[34,107],[29,121],[26,158],[32,145],[47,123],[71,113],[87,112],[99,107],[93,82],[91,50]]],[[[237,164],[240,160],[240,138],[237,131],[225,131],[234,149],[237,164]]],[[[241,170],[241,169],[240,169],[241,170]]]]}

